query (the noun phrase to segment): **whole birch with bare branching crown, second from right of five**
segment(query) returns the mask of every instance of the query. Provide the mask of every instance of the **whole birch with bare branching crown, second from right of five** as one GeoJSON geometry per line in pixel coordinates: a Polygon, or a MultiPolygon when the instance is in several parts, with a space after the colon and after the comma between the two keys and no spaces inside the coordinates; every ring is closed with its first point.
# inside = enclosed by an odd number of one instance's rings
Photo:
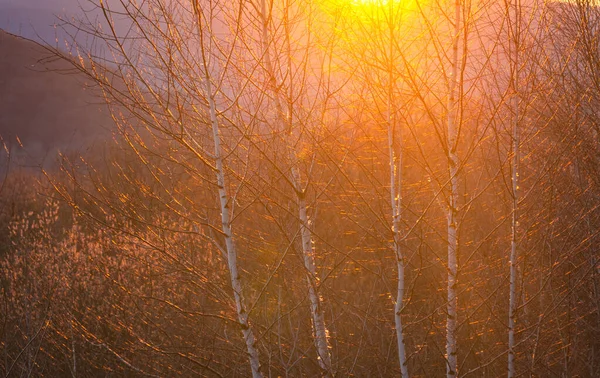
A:
{"type": "MultiPolygon", "coordinates": [[[[436,163],[432,151],[423,147],[419,149],[424,173],[431,183],[432,201],[440,205],[445,218],[445,230],[441,235],[446,255],[444,358],[447,377],[459,375],[460,367],[461,223],[467,219],[473,201],[485,190],[485,187],[476,186],[470,187],[471,193],[466,193],[461,187],[463,184],[467,186],[469,160],[481,147],[481,140],[489,128],[489,120],[480,122],[483,111],[480,101],[485,94],[479,92],[482,72],[489,63],[485,50],[493,49],[496,42],[495,36],[485,35],[488,31],[479,24],[481,15],[488,12],[489,7],[486,2],[461,0],[433,4],[417,2],[416,9],[425,24],[428,44],[416,55],[421,57],[420,60],[402,55],[407,83],[419,99],[420,107],[435,132],[439,152],[443,153],[440,163],[436,163]],[[485,46],[486,41],[491,43],[485,46]],[[417,62],[423,62],[423,66],[417,62]]],[[[422,138],[417,133],[413,135],[422,138]]],[[[417,143],[423,143],[419,139],[417,143]]],[[[467,242],[481,241],[470,235],[467,242]]],[[[465,282],[466,287],[472,285],[473,282],[465,282]]]]}

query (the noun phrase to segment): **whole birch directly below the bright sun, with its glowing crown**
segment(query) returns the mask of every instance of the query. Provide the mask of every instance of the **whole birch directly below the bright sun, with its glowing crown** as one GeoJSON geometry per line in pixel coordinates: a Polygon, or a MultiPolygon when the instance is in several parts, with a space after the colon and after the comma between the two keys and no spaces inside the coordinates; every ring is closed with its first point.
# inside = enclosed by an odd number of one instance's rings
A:
{"type": "MultiPolygon", "coordinates": [[[[364,102],[373,101],[372,108],[366,108],[370,117],[381,117],[385,122],[387,135],[387,155],[389,168],[389,209],[390,222],[386,228],[391,230],[391,252],[396,262],[396,295],[394,302],[394,324],[396,333],[396,345],[400,372],[403,377],[409,377],[406,343],[404,341],[404,326],[402,313],[405,306],[406,280],[405,270],[407,264],[406,253],[402,249],[402,239],[405,235],[402,231],[402,165],[403,162],[403,125],[405,116],[400,114],[409,107],[402,102],[407,101],[406,94],[400,93],[402,88],[402,59],[398,50],[406,49],[407,41],[413,40],[417,32],[413,29],[414,24],[410,22],[409,7],[396,1],[372,2],[365,4],[354,4],[342,9],[347,21],[346,31],[349,39],[346,48],[354,56],[356,61],[351,60],[360,68],[352,74],[359,87],[366,86],[371,94],[371,99],[363,98],[364,102]],[[406,15],[408,13],[408,16],[406,15]],[[409,19],[409,25],[402,25],[405,18],[409,19]],[[400,37],[402,36],[402,37],[400,37]],[[368,44],[363,39],[370,38],[368,44]],[[404,42],[402,42],[404,40],[404,42]],[[379,105],[381,104],[381,106],[379,105]],[[384,114],[377,114],[379,109],[384,109],[384,114]]],[[[418,43],[418,42],[417,42],[418,43]]],[[[405,51],[406,55],[409,52],[405,51]]],[[[349,69],[349,71],[351,71],[349,69]]]]}

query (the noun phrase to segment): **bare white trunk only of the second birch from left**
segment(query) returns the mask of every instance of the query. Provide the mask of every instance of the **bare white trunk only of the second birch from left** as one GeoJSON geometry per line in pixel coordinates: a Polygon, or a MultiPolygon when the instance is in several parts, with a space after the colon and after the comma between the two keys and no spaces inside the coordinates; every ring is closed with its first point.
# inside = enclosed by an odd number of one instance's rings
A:
{"type": "MultiPolygon", "coordinates": [[[[267,74],[270,76],[269,81],[272,86],[272,91],[275,98],[275,107],[277,117],[282,126],[282,132],[291,132],[292,125],[290,125],[289,117],[283,114],[283,107],[281,105],[282,100],[279,93],[279,83],[275,76],[273,64],[271,62],[271,55],[269,52],[269,25],[267,17],[267,6],[266,0],[261,1],[262,5],[262,21],[263,21],[263,48],[264,48],[264,59],[267,74]]],[[[331,354],[329,352],[329,340],[328,331],[325,325],[325,314],[322,308],[322,300],[319,295],[319,280],[317,276],[317,267],[315,263],[315,251],[313,247],[311,225],[308,220],[308,209],[306,205],[306,199],[304,197],[305,191],[302,187],[302,178],[300,175],[300,168],[298,163],[298,155],[295,149],[290,145],[289,141],[283,140],[286,146],[288,156],[291,161],[291,182],[296,195],[296,202],[298,204],[298,217],[300,223],[300,236],[302,243],[302,253],[304,256],[304,268],[306,271],[306,280],[308,284],[308,299],[310,301],[310,312],[311,321],[313,328],[313,337],[315,347],[317,349],[317,359],[319,367],[327,377],[333,376],[333,370],[331,365],[331,354]]]]}

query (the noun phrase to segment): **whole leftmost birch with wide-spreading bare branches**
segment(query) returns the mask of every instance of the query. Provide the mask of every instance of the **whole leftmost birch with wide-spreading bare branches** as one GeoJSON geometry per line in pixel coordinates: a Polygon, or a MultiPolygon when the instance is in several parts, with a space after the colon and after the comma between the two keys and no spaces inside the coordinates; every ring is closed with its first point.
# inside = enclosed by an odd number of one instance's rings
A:
{"type": "Polygon", "coordinates": [[[107,46],[116,67],[106,67],[106,57],[85,50],[75,57],[78,61],[73,61],[74,66],[102,89],[126,143],[162,187],[167,207],[183,219],[195,219],[197,229],[212,235],[208,241],[222,251],[250,370],[253,377],[261,377],[257,338],[249,320],[233,230],[237,194],[244,180],[235,185],[228,182],[234,164],[228,165],[227,156],[229,161],[234,160],[231,150],[243,149],[240,139],[237,145],[229,145],[230,152],[224,150],[233,135],[247,129],[236,108],[245,85],[232,85],[232,72],[240,69],[234,59],[240,28],[235,22],[242,7],[198,0],[141,4],[123,1],[117,10],[102,0],[96,5],[108,30],[90,20],[77,26],[80,32],[107,46]],[[131,25],[124,35],[114,26],[117,18],[125,18],[131,25]],[[153,141],[159,141],[159,148],[166,146],[167,150],[153,149],[153,141]],[[156,156],[162,163],[152,163],[156,156]],[[170,189],[172,183],[160,181],[164,164],[179,167],[196,183],[211,183],[219,209],[218,226],[195,212],[194,201],[179,197],[178,189],[170,189]]]}

